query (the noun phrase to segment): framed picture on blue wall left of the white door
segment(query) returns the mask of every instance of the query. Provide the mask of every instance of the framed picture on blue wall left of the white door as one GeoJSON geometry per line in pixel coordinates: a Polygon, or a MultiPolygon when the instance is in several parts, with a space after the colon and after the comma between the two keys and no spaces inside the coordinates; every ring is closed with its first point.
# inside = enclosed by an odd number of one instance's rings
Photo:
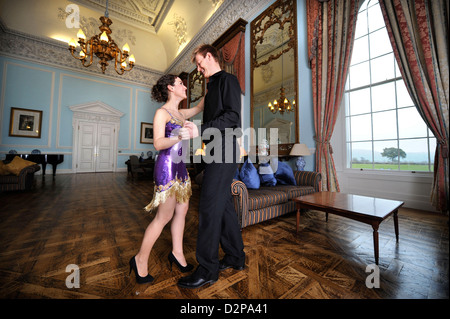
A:
{"type": "Polygon", "coordinates": [[[41,138],[42,111],[11,108],[9,136],[41,138]]]}

